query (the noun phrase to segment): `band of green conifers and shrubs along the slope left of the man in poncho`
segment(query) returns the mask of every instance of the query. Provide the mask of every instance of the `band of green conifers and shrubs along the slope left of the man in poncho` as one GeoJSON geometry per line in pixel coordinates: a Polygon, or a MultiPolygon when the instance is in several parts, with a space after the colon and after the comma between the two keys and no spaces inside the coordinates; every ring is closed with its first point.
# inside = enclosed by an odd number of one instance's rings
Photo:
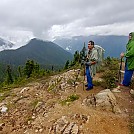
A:
{"type": "Polygon", "coordinates": [[[78,51],[75,52],[72,61],[67,60],[63,68],[59,68],[56,65],[51,65],[51,67],[50,65],[46,65],[45,69],[42,65],[39,65],[34,60],[30,59],[26,61],[24,66],[17,67],[16,65],[0,64],[0,92],[25,85],[38,78],[45,78],[68,69],[78,68],[79,66],[80,54],[78,51]]]}

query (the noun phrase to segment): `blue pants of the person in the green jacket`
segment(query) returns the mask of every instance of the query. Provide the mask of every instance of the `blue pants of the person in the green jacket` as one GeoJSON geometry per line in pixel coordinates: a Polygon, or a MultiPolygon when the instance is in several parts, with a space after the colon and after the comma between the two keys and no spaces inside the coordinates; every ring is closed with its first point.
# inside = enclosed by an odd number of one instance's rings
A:
{"type": "Polygon", "coordinates": [[[125,74],[122,84],[124,86],[129,86],[131,84],[131,78],[133,75],[134,70],[128,70],[127,63],[125,64],[125,74]]]}

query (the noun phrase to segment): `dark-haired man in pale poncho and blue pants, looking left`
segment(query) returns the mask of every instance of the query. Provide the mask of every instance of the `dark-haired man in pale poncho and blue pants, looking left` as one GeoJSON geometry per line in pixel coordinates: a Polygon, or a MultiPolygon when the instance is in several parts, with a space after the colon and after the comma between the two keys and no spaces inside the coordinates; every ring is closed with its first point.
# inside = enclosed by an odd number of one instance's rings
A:
{"type": "Polygon", "coordinates": [[[98,60],[98,52],[97,49],[94,47],[94,42],[88,42],[88,53],[87,53],[87,60],[85,62],[86,65],[86,77],[87,77],[87,87],[86,90],[91,90],[93,88],[92,78],[96,73],[96,66],[98,60]]]}

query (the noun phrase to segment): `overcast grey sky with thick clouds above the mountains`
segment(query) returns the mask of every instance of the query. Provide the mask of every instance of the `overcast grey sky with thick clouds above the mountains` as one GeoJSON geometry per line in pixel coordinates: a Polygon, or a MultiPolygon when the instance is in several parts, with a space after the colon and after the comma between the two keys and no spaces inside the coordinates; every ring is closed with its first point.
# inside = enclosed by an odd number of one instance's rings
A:
{"type": "Polygon", "coordinates": [[[131,31],[134,0],[0,0],[0,37],[14,43],[131,31]]]}

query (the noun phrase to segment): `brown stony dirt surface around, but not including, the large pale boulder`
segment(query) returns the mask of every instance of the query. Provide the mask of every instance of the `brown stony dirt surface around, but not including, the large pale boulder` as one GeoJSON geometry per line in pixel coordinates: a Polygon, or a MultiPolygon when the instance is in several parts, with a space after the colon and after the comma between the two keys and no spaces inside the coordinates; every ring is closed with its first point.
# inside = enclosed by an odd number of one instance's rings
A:
{"type": "Polygon", "coordinates": [[[47,82],[42,80],[13,89],[0,103],[8,107],[7,112],[0,114],[0,134],[56,134],[57,120],[63,118],[61,124],[72,123],[75,129],[71,131],[77,133],[78,130],[79,134],[130,134],[129,115],[133,112],[134,99],[128,89],[114,93],[121,109],[120,114],[114,114],[83,105],[83,100],[103,90],[101,87],[85,91],[79,83],[77,88],[68,87],[55,94],[48,92],[47,87],[47,82]],[[61,105],[61,101],[72,94],[77,94],[79,99],[61,105]]]}

